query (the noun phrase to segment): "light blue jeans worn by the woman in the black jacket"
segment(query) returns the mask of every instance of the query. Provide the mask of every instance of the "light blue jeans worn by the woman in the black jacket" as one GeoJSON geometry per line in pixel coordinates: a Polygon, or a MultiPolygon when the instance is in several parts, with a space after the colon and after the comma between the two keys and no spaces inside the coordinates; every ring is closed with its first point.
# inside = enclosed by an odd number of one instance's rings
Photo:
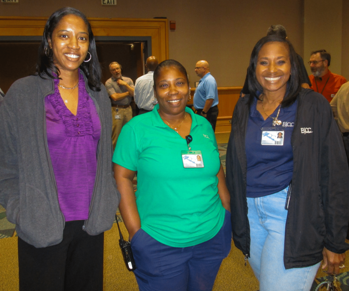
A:
{"type": "Polygon", "coordinates": [[[250,221],[250,263],[260,291],[309,291],[320,263],[305,268],[285,269],[283,262],[285,202],[288,187],[272,195],[247,198],[250,221]]]}

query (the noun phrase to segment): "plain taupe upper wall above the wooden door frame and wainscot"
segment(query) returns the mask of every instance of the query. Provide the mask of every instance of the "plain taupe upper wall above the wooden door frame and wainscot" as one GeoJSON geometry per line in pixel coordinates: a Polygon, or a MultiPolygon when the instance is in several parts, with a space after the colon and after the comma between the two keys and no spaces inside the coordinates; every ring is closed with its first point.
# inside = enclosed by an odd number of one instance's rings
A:
{"type": "MultiPolygon", "coordinates": [[[[271,24],[282,24],[296,51],[301,56],[305,53],[305,61],[309,60],[310,52],[303,52],[302,0],[117,0],[116,6],[102,6],[101,0],[20,0],[15,5],[0,3],[0,16],[48,17],[63,6],[80,9],[87,17],[165,16],[176,21],[176,30],[169,31],[169,57],[186,67],[192,86],[199,80],[194,67],[201,59],[209,62],[219,87],[242,86],[252,48],[271,24]]],[[[348,42],[349,39],[343,46],[348,42]]]]}

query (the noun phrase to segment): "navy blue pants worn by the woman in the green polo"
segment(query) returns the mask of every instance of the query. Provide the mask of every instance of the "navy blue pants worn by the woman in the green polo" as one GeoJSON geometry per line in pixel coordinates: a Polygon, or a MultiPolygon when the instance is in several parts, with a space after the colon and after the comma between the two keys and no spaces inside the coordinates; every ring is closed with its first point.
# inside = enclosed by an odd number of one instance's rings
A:
{"type": "Polygon", "coordinates": [[[230,212],[225,211],[221,230],[199,245],[170,247],[140,229],[131,240],[131,248],[140,291],[212,290],[231,248],[230,212]]]}

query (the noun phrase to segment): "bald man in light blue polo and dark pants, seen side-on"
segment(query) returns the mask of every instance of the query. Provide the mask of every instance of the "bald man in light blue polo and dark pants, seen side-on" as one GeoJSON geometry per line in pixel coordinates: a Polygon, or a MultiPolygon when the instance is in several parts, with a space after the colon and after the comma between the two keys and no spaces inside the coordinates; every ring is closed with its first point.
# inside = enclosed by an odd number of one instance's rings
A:
{"type": "Polygon", "coordinates": [[[194,93],[194,108],[196,114],[205,117],[216,129],[218,116],[218,90],[215,78],[210,73],[210,66],[207,61],[198,61],[195,65],[195,73],[201,79],[194,93]]]}

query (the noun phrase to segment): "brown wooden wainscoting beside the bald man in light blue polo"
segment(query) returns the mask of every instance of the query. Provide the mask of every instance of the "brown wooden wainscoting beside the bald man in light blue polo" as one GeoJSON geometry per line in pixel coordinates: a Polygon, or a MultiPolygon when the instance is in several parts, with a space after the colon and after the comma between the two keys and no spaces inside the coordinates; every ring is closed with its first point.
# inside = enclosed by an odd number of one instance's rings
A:
{"type": "MultiPolygon", "coordinates": [[[[218,87],[219,112],[215,132],[230,132],[231,116],[239,99],[241,89],[242,87],[218,87]]],[[[195,88],[192,88],[188,103],[193,103],[194,92],[195,88]]]]}

